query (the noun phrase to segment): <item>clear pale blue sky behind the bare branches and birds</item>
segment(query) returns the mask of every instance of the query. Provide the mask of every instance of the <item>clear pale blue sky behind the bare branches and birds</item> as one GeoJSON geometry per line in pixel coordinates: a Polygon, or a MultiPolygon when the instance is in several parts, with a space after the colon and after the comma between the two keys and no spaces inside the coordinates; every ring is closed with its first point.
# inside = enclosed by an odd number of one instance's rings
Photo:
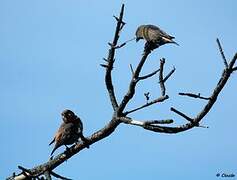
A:
{"type": "MultiPolygon", "coordinates": [[[[0,177],[18,165],[33,167],[49,159],[48,146],[65,108],[79,115],[85,135],[102,128],[112,116],[104,69],[115,29],[113,15],[125,3],[126,26],[120,42],[134,36],[137,26],[155,24],[176,37],[180,46],[166,45],[149,57],[142,73],[176,67],[167,83],[170,99],[134,113],[136,119],[173,118],[171,106],[190,116],[204,101],[179,97],[178,92],[209,96],[223,69],[216,38],[228,59],[236,52],[236,1],[75,1],[0,0],[0,177]]],[[[144,42],[130,42],[117,52],[113,71],[121,99],[141,57],[144,42]]],[[[139,84],[129,108],[144,103],[143,93],[160,95],[157,77],[139,84]]],[[[169,135],[121,125],[109,138],[93,144],[56,169],[72,179],[218,179],[237,176],[236,83],[234,74],[202,125],[169,135]]],[[[59,148],[56,153],[62,152],[59,148]]]]}

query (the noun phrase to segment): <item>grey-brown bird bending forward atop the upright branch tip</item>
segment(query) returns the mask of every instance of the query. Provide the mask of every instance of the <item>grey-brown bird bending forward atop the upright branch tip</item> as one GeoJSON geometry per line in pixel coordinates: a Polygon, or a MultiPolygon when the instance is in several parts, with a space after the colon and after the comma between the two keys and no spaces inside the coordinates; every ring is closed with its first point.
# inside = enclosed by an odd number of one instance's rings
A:
{"type": "Polygon", "coordinates": [[[159,27],[154,25],[141,25],[136,31],[136,41],[145,39],[148,43],[155,45],[156,47],[162,46],[167,43],[174,43],[174,37],[170,36],[166,32],[162,31],[159,27]]]}

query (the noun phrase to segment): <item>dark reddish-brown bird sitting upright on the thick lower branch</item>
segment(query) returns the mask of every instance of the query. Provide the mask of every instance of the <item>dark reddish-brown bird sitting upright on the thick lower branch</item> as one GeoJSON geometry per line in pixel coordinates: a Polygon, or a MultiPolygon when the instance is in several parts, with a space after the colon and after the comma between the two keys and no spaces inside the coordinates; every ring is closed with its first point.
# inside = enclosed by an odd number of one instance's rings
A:
{"type": "Polygon", "coordinates": [[[89,148],[88,140],[83,136],[83,124],[81,119],[76,116],[71,110],[64,110],[62,113],[63,123],[56,132],[54,139],[49,143],[49,145],[55,143],[53,151],[62,145],[71,145],[78,142],[79,138],[86,143],[87,148],[89,148]]]}

